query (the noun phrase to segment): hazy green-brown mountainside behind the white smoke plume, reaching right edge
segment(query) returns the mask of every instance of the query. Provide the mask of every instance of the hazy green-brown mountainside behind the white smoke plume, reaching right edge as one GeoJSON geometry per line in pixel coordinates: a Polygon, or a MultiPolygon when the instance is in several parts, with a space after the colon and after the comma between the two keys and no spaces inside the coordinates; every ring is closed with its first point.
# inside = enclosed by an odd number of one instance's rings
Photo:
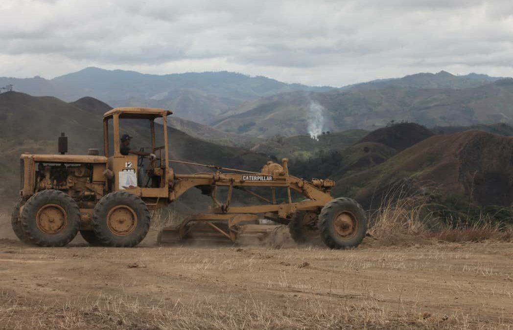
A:
{"type": "Polygon", "coordinates": [[[427,127],[513,122],[513,79],[466,89],[388,87],[327,93],[294,92],[248,102],[215,123],[227,132],[259,137],[308,133],[312,105],[320,105],[322,130],[374,130],[391,120],[427,127]]]}

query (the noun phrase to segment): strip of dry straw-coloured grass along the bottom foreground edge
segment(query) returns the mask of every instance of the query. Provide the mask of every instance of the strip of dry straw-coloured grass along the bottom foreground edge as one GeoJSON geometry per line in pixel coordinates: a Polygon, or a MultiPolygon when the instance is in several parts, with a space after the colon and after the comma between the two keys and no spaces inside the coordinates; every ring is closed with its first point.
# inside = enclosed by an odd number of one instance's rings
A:
{"type": "MultiPolygon", "coordinates": [[[[398,301],[400,305],[400,301],[398,301]]],[[[0,328],[8,329],[422,329],[474,328],[468,317],[435,316],[404,308],[290,299],[278,305],[255,299],[198,298],[141,301],[101,295],[65,303],[31,301],[2,292],[0,328]]],[[[498,326],[509,326],[498,324],[498,326]]],[[[491,328],[500,328],[492,326],[491,328]]]]}

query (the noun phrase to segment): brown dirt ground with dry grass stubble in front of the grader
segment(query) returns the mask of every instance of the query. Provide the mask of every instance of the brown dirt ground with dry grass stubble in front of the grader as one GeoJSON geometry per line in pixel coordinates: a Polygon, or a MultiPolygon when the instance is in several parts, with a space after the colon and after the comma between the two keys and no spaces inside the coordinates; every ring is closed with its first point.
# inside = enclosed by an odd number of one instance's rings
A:
{"type": "Polygon", "coordinates": [[[0,328],[513,328],[513,244],[0,242],[0,328]],[[376,247],[377,246],[377,247],[376,247]]]}

